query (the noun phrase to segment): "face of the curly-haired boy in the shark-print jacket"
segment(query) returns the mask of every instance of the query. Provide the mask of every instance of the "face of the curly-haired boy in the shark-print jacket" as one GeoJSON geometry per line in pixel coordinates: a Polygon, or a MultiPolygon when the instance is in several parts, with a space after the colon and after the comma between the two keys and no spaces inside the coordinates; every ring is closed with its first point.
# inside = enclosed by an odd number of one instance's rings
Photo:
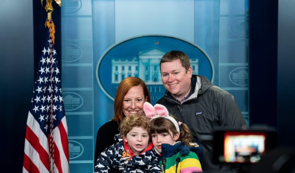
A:
{"type": "Polygon", "coordinates": [[[134,155],[140,154],[148,146],[149,134],[146,129],[142,127],[134,127],[124,137],[124,141],[127,142],[134,155]]]}

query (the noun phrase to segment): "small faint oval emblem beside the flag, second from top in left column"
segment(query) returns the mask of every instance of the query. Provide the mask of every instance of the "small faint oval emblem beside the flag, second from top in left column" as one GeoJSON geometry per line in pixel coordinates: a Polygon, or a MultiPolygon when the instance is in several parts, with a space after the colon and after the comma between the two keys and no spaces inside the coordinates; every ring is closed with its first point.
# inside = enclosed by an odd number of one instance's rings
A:
{"type": "Polygon", "coordinates": [[[78,45],[65,43],[63,45],[62,60],[64,62],[74,62],[80,59],[83,55],[83,50],[78,45]]]}

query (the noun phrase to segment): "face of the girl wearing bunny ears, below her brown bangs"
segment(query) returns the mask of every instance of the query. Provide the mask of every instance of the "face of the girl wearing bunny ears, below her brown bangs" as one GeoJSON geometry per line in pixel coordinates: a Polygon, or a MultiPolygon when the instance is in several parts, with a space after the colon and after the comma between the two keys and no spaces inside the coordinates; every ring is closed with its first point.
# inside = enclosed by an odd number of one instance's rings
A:
{"type": "Polygon", "coordinates": [[[152,142],[157,151],[162,153],[162,143],[169,143],[173,145],[179,138],[179,133],[173,135],[169,130],[169,133],[153,133],[152,142]]]}

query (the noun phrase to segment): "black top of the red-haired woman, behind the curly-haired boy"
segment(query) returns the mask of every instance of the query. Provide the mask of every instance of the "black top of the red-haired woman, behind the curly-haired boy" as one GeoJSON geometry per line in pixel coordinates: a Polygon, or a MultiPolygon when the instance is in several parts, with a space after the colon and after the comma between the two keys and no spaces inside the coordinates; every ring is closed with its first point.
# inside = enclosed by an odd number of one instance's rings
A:
{"type": "MultiPolygon", "coordinates": [[[[98,129],[96,135],[94,165],[101,152],[117,142],[114,138],[117,134],[119,134],[119,124],[117,121],[109,121],[98,129]]],[[[113,171],[111,172],[114,173],[113,171]]]]}

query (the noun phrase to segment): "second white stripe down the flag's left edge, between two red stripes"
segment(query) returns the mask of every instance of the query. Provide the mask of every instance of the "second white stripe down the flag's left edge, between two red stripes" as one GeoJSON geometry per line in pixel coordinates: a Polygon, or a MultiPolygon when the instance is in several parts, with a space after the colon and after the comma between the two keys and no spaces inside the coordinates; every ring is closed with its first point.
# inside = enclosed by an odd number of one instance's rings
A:
{"type": "Polygon", "coordinates": [[[39,172],[49,172],[40,160],[39,153],[31,146],[30,142],[27,139],[25,139],[24,142],[24,153],[27,154],[31,161],[36,165],[39,172]]]}

